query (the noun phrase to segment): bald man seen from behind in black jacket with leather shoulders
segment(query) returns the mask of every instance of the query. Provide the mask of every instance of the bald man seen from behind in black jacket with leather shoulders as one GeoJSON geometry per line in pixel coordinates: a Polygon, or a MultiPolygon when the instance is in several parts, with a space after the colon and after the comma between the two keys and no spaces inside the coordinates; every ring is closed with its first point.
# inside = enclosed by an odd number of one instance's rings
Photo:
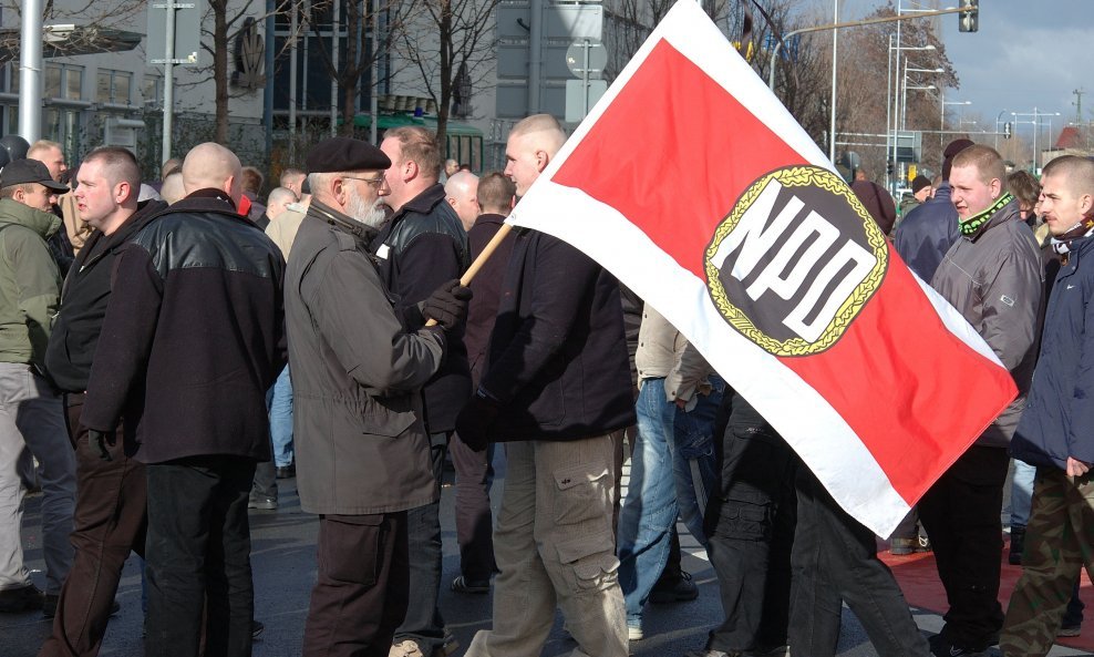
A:
{"type": "Polygon", "coordinates": [[[195,146],[186,198],[118,254],[81,417],[96,442],[116,442],[123,418],[136,430],[149,655],[197,655],[203,634],[207,655],[250,655],[247,499],[255,463],[270,456],[285,261],[236,211],[240,168],[219,144],[195,146]]]}

